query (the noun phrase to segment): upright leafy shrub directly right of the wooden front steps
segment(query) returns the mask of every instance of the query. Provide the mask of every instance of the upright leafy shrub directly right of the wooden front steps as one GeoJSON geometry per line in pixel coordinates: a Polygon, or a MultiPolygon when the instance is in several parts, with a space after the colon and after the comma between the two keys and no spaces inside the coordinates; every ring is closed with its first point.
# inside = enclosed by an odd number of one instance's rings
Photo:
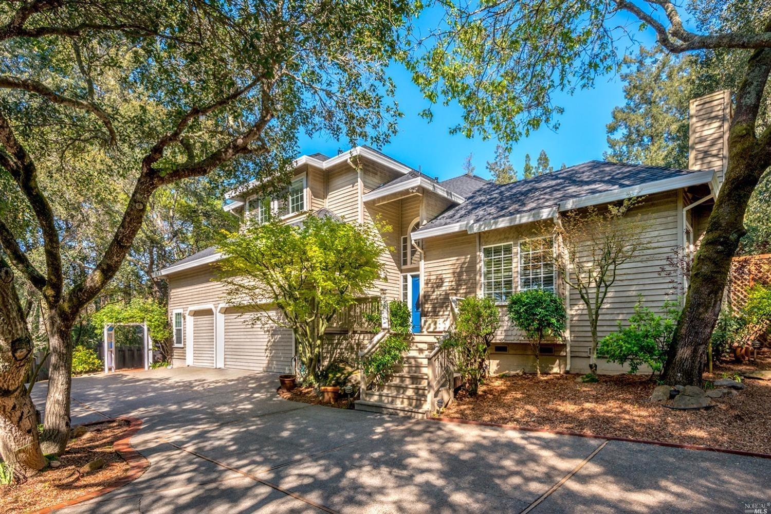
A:
{"type": "Polygon", "coordinates": [[[492,298],[463,298],[455,326],[441,343],[469,396],[478,394],[487,377],[487,350],[499,326],[500,311],[492,298]]]}

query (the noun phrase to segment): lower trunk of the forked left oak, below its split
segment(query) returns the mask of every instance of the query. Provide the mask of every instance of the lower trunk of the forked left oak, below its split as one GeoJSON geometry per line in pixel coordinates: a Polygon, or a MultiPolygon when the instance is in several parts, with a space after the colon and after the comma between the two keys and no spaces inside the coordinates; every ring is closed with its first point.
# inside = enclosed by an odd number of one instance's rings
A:
{"type": "Polygon", "coordinates": [[[43,452],[58,455],[67,447],[71,428],[69,395],[72,386],[72,322],[52,314],[48,321],[48,331],[51,361],[41,445],[43,452]]]}

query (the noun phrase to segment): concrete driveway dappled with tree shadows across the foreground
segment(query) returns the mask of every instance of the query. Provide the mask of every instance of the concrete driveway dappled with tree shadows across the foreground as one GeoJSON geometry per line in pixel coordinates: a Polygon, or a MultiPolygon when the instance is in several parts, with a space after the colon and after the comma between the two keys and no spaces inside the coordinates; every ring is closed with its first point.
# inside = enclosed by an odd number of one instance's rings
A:
{"type": "Polygon", "coordinates": [[[285,401],[277,386],[277,375],[203,368],[74,379],[72,423],[142,418],[132,445],[150,468],[62,512],[745,512],[771,502],[771,459],[343,411],[285,401]]]}

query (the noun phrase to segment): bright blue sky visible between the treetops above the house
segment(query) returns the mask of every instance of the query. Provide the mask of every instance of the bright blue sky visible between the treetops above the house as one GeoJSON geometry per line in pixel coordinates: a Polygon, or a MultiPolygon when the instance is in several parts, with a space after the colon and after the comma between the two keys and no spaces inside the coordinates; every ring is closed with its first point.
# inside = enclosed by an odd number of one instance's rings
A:
{"type": "MultiPolygon", "coordinates": [[[[631,17],[630,17],[631,18],[631,17]]],[[[651,33],[637,35],[639,43],[651,45],[651,33]]],[[[629,42],[621,42],[628,44],[629,42]]],[[[428,123],[418,113],[429,106],[419,89],[412,84],[409,74],[401,66],[392,66],[392,78],[397,85],[396,98],[405,116],[399,122],[399,133],[391,143],[381,150],[402,163],[420,167],[423,173],[439,176],[440,180],[463,173],[461,166],[469,153],[473,153],[474,173],[490,176],[485,163],[493,160],[497,141],[480,138],[466,139],[462,135],[450,135],[449,126],[458,123],[461,109],[456,105],[433,106],[434,119],[428,123]]],[[[555,103],[564,108],[559,116],[560,128],[556,132],[542,128],[530,137],[520,139],[513,146],[511,162],[522,175],[526,153],[535,162],[541,149],[545,149],[551,165],[555,168],[565,163],[571,166],[587,160],[602,159],[608,148],[605,126],[611,120],[611,110],[625,102],[623,82],[616,75],[598,77],[593,89],[577,90],[574,95],[557,92],[555,103]]],[[[335,156],[338,150],[348,149],[347,143],[340,143],[325,136],[309,138],[301,135],[300,155],[321,152],[335,156]]],[[[362,142],[366,143],[366,142],[362,142]]]]}

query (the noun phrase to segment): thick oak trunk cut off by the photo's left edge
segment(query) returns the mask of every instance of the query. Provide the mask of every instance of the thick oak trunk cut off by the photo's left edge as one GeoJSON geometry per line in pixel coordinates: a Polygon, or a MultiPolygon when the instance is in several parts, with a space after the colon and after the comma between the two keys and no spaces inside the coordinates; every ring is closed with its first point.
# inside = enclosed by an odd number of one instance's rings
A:
{"type": "Polygon", "coordinates": [[[45,467],[35,405],[25,388],[34,346],[13,284],[0,260],[0,455],[24,479],[45,467]]]}

